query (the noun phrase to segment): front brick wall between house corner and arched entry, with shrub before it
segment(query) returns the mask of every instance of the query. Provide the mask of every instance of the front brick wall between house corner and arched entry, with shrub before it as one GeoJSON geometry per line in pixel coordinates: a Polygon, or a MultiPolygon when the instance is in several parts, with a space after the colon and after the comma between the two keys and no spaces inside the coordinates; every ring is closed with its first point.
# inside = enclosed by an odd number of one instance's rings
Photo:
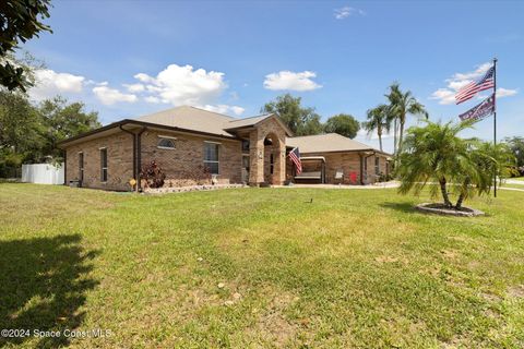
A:
{"type": "Polygon", "coordinates": [[[204,142],[218,145],[218,183],[241,182],[241,142],[184,133],[151,130],[142,134],[142,166],[155,160],[166,174],[166,185],[207,184],[210,174],[204,168],[204,142]],[[159,135],[176,137],[175,149],[158,148],[159,135]]]}

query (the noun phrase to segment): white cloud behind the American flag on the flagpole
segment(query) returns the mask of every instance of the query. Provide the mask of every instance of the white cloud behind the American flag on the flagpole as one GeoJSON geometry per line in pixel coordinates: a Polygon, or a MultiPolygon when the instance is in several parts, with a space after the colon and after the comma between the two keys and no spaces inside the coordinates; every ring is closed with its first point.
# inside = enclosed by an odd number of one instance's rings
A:
{"type": "MultiPolygon", "coordinates": [[[[429,99],[436,99],[439,101],[440,105],[454,104],[456,92],[465,85],[469,84],[471,82],[481,77],[488,71],[488,69],[491,68],[491,62],[486,62],[478,65],[474,71],[453,74],[453,76],[445,80],[445,82],[448,83],[446,87],[441,87],[433,92],[429,99]]],[[[498,88],[497,97],[514,96],[516,93],[516,89],[498,88]]]]}

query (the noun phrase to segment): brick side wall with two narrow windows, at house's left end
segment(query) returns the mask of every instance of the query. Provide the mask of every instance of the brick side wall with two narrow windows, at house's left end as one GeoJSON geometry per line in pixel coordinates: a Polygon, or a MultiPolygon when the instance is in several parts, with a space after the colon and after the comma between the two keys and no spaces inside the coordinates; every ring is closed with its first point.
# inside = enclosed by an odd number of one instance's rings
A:
{"type": "Polygon", "coordinates": [[[118,132],[114,135],[72,145],[67,152],[66,181],[80,179],[79,152],[84,154],[85,188],[130,190],[128,181],[133,177],[133,139],[118,132]],[[107,182],[100,181],[100,147],[107,148],[107,182]]]}

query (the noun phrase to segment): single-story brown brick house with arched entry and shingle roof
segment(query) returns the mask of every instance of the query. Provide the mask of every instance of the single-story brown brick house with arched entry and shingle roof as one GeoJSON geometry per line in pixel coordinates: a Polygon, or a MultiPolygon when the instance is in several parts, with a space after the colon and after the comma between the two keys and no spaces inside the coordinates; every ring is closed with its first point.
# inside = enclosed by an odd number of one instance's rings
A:
{"type": "Polygon", "coordinates": [[[117,191],[131,190],[129,181],[153,160],[172,186],[212,181],[367,184],[388,172],[389,156],[337,134],[293,137],[275,115],[236,119],[193,107],[123,119],[59,146],[66,153],[66,183],[117,191]],[[295,146],[303,159],[300,176],[286,156],[295,146]]]}

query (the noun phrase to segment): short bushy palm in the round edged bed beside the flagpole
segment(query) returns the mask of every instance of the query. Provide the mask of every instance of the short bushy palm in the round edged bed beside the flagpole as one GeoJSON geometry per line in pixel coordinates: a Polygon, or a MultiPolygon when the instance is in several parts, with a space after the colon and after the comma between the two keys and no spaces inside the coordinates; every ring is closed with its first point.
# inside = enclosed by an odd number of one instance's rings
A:
{"type": "Polygon", "coordinates": [[[440,189],[444,206],[460,209],[467,197],[489,193],[496,172],[500,177],[507,174],[505,168],[511,161],[507,147],[458,137],[457,134],[472,122],[426,122],[425,127],[407,131],[400,149],[396,174],[401,180],[401,193],[413,190],[419,194],[428,183],[437,182],[439,185],[430,186],[431,196],[436,197],[440,189]],[[457,195],[455,205],[450,193],[457,195]]]}

